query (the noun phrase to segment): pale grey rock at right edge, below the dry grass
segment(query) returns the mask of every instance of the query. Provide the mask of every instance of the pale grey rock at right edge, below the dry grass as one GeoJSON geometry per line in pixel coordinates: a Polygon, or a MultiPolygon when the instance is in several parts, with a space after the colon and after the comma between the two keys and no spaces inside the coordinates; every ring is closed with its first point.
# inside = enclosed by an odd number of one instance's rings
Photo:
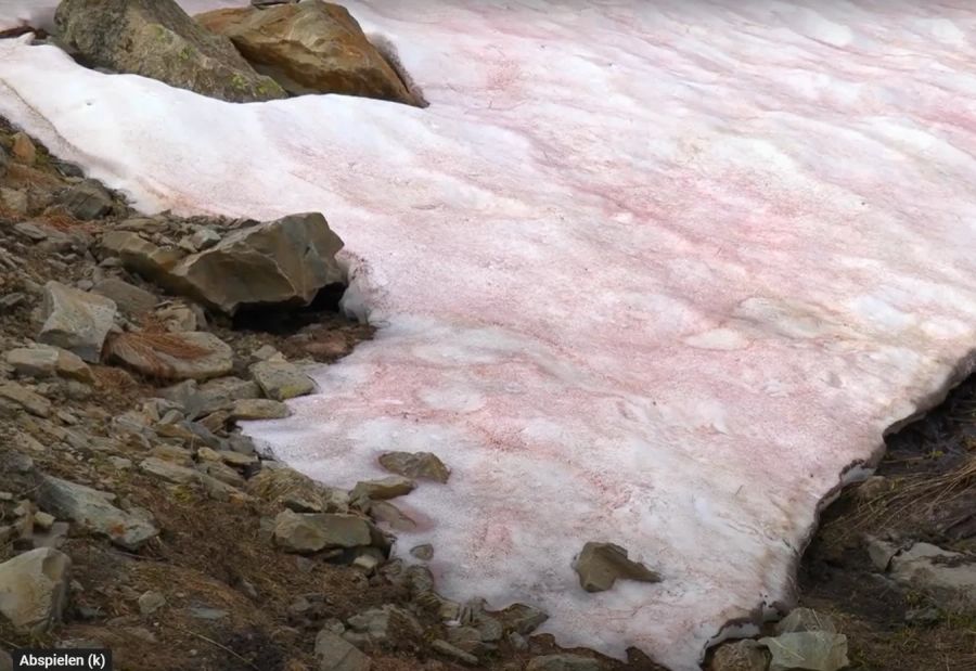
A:
{"type": "Polygon", "coordinates": [[[929,543],[915,543],[891,558],[896,582],[928,593],[947,609],[976,607],[976,560],[929,543]]]}

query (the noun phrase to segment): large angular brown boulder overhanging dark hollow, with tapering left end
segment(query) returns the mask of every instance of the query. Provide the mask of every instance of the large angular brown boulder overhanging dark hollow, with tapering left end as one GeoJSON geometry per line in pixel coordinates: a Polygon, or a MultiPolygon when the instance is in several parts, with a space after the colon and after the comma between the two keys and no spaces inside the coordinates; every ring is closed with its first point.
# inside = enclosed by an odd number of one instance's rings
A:
{"type": "Polygon", "coordinates": [[[189,256],[136,233],[114,231],[102,238],[102,249],[118,255],[126,268],[227,314],[247,306],[310,304],[323,286],[344,280],[335,260],[342,248],[318,212],[235,230],[189,256]]]}

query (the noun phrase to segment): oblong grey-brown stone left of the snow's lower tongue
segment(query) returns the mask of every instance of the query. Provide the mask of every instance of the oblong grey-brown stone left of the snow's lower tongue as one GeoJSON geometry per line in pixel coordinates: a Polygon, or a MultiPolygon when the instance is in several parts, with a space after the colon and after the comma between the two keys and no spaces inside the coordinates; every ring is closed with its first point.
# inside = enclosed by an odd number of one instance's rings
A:
{"type": "Polygon", "coordinates": [[[314,553],[336,547],[369,545],[369,520],[355,515],[300,514],[282,511],[274,518],[274,543],[287,552],[314,553]]]}

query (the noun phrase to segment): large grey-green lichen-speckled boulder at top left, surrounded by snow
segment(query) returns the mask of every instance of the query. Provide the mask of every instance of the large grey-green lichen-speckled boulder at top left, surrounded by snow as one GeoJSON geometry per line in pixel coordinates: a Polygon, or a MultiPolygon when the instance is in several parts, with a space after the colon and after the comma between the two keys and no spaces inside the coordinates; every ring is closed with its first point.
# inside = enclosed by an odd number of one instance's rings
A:
{"type": "Polygon", "coordinates": [[[93,66],[230,102],[286,96],[174,0],[63,0],[54,22],[61,40],[93,66]]]}

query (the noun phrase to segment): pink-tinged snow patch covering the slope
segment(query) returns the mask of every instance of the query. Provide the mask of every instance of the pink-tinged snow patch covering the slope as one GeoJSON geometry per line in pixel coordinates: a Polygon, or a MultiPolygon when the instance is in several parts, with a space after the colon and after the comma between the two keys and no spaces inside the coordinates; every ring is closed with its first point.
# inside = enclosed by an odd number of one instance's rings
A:
{"type": "Polygon", "coordinates": [[[968,370],[976,12],[348,5],[431,107],[224,104],[9,40],[0,113],[146,210],[323,211],[382,330],[252,434],[345,487],[438,453],[451,480],[397,502],[420,522],[398,552],[432,542],[444,592],[697,668],[788,603],[845,469],[968,370]],[[588,540],[664,581],[583,593],[588,540]]]}

